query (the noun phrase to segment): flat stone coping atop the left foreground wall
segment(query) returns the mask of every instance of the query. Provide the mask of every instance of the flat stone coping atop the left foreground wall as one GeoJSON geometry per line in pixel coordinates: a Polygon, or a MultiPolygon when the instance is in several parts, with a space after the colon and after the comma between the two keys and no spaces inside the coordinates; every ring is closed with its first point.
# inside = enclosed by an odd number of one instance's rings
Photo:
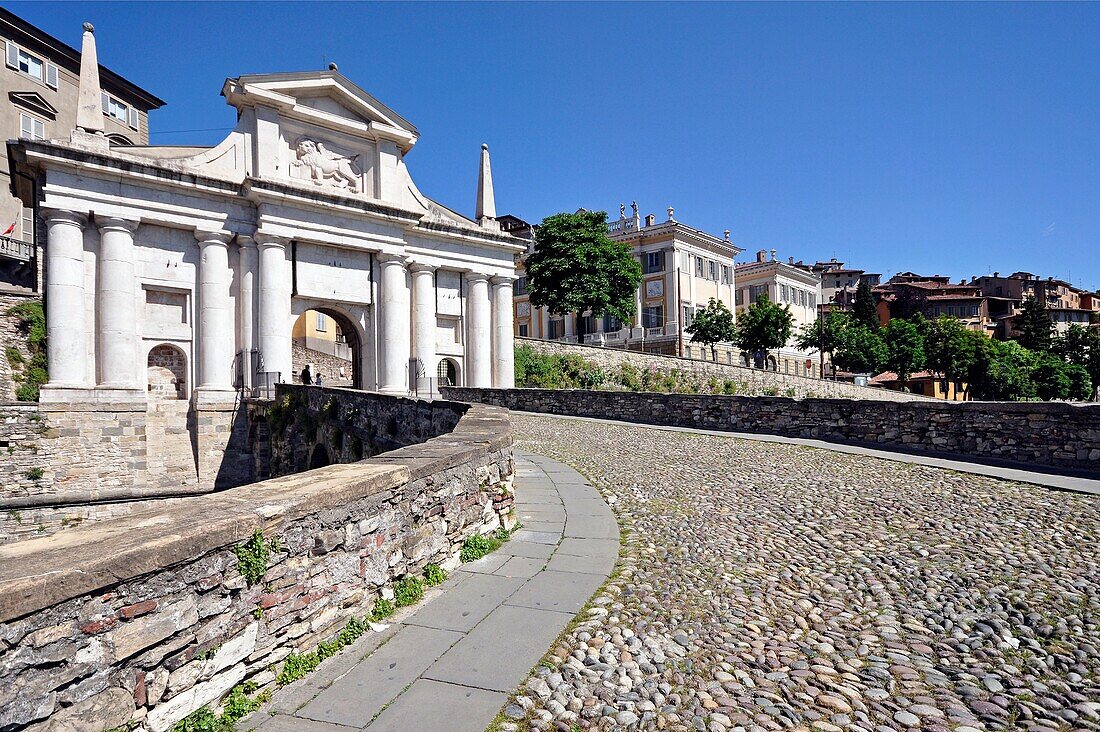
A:
{"type": "Polygon", "coordinates": [[[276,533],[304,516],[509,445],[507,411],[472,405],[453,431],[380,457],[180,499],[173,505],[4,544],[0,546],[0,622],[231,546],[257,528],[276,533]]]}

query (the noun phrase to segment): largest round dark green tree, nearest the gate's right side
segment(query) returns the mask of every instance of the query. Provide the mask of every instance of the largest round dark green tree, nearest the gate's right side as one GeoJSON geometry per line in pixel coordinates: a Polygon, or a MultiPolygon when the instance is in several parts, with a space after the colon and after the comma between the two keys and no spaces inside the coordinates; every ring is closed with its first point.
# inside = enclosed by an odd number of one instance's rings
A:
{"type": "Polygon", "coordinates": [[[559,315],[591,312],[630,319],[641,265],[629,244],[608,239],[606,220],[604,211],[542,220],[526,263],[531,305],[559,315]]]}

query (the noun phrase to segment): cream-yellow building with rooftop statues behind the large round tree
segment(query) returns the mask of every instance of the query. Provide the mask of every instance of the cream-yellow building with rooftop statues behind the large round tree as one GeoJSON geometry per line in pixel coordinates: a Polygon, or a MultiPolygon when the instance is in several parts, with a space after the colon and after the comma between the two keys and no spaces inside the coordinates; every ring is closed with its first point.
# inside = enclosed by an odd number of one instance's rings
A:
{"type": "MultiPolygon", "coordinates": [[[[635,316],[629,323],[591,314],[552,315],[546,308],[531,305],[527,293],[524,259],[517,266],[515,285],[516,335],[548,340],[584,342],[613,348],[629,348],[668,356],[707,358],[691,335],[684,331],[713,297],[734,309],[735,265],[740,253],[729,239],[695,229],[674,218],[657,221],[652,214],[641,218],[636,205],[627,216],[626,206],[619,217],[607,225],[607,236],[630,244],[641,263],[642,282],[635,299],[635,316]]],[[[534,245],[535,227],[515,216],[499,217],[502,230],[526,239],[534,245]]],[[[723,356],[733,362],[729,347],[723,356]]]]}

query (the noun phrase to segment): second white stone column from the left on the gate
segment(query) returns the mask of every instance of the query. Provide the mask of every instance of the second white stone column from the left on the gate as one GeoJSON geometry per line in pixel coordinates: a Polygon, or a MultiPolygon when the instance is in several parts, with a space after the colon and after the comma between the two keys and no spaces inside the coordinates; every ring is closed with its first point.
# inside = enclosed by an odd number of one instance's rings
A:
{"type": "Polygon", "coordinates": [[[136,221],[101,218],[96,273],[96,358],[100,389],[138,389],[138,314],[134,293],[136,221]]]}

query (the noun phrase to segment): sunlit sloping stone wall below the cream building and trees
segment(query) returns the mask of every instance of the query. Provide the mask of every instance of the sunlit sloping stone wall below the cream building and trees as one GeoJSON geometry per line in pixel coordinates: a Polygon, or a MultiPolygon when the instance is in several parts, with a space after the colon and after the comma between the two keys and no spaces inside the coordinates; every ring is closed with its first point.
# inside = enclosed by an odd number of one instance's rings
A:
{"type": "Polygon", "coordinates": [[[749,369],[741,365],[715,363],[696,359],[682,359],[674,356],[640,353],[617,348],[601,348],[580,343],[562,343],[552,340],[535,338],[516,338],[517,346],[529,346],[536,353],[566,354],[572,353],[592,361],[601,369],[617,370],[625,363],[637,369],[653,369],[657,371],[683,371],[698,376],[717,376],[733,379],[744,384],[743,391],[749,394],[783,394],[795,398],[832,397],[851,400],[879,400],[887,402],[915,402],[927,397],[920,394],[905,394],[887,389],[856,386],[838,381],[810,379],[793,374],[749,369]]]}

